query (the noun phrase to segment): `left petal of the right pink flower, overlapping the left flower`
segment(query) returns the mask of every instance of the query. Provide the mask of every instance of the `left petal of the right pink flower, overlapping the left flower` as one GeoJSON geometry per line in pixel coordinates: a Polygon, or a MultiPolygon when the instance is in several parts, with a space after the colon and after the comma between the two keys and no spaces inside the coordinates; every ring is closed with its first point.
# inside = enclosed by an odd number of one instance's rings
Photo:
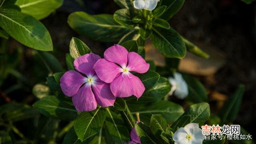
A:
{"type": "Polygon", "coordinates": [[[93,68],[100,80],[106,83],[112,82],[122,70],[118,65],[104,58],[99,59],[93,68]]]}

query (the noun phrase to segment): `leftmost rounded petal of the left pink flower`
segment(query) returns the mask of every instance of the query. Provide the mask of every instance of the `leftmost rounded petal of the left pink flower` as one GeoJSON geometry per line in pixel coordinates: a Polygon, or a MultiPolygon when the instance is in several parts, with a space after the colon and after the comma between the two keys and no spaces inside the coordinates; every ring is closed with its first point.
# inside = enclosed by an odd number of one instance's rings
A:
{"type": "Polygon", "coordinates": [[[74,96],[80,86],[85,83],[86,77],[74,70],[69,70],[60,78],[60,87],[66,96],[74,96]]]}

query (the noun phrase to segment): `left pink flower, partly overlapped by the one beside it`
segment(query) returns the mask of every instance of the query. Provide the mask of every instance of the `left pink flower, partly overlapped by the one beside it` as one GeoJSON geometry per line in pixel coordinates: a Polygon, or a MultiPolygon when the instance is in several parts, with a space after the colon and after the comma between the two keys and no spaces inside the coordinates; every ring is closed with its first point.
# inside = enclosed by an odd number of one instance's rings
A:
{"type": "Polygon", "coordinates": [[[90,53],[80,56],[74,61],[74,68],[60,78],[62,92],[72,97],[72,102],[79,112],[92,111],[100,106],[113,106],[115,97],[110,84],[102,82],[96,75],[93,66],[100,56],[90,53]],[[80,73],[82,74],[80,74],[80,73]]]}

